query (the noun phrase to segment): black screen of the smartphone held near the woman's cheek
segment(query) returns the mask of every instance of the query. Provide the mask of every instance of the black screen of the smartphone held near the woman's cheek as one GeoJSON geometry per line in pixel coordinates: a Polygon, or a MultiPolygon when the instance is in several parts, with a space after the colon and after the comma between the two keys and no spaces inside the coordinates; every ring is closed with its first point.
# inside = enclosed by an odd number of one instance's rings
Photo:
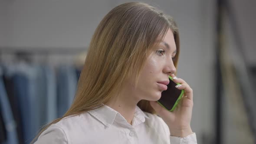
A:
{"type": "Polygon", "coordinates": [[[175,88],[177,84],[173,82],[170,78],[169,80],[170,82],[167,85],[167,90],[162,92],[161,98],[158,101],[162,105],[164,105],[165,108],[167,108],[168,110],[171,110],[175,102],[181,95],[181,90],[178,88],[175,88]]]}

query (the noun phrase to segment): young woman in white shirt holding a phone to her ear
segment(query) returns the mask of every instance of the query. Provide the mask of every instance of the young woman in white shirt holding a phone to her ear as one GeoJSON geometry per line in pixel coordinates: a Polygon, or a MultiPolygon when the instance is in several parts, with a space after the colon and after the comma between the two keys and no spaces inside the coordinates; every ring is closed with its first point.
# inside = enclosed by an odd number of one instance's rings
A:
{"type": "Polygon", "coordinates": [[[197,144],[193,92],[174,75],[179,52],[170,16],[145,3],[115,7],[92,36],[72,106],[35,144],[197,144]],[[156,102],[169,75],[185,90],[173,112],[156,102]]]}

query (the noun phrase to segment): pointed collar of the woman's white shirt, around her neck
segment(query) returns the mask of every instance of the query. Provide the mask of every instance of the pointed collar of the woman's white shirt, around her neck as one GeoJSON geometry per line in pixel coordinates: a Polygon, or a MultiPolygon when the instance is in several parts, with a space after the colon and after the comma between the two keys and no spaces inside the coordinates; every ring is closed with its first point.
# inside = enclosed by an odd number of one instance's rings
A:
{"type": "MultiPolygon", "coordinates": [[[[121,124],[128,124],[126,119],[118,111],[115,111],[113,108],[110,108],[107,105],[102,105],[102,107],[88,112],[101,121],[106,127],[112,125],[114,121],[121,124]]],[[[144,123],[145,118],[149,117],[145,115],[144,112],[136,105],[134,118],[132,119],[132,126],[144,123]]]]}

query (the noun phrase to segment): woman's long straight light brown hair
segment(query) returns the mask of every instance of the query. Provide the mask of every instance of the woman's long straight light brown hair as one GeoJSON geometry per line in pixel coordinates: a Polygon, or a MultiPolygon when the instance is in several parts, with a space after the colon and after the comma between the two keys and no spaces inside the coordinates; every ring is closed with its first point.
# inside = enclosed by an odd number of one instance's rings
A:
{"type": "MultiPolygon", "coordinates": [[[[71,107],[61,118],[42,128],[33,141],[62,118],[79,115],[107,103],[132,74],[135,74],[137,84],[147,56],[168,29],[174,33],[177,47],[174,65],[177,67],[180,43],[178,29],[171,16],[139,2],[113,8],[92,36],[71,107]]],[[[142,111],[155,113],[149,101],[139,101],[138,107],[142,111]]]]}

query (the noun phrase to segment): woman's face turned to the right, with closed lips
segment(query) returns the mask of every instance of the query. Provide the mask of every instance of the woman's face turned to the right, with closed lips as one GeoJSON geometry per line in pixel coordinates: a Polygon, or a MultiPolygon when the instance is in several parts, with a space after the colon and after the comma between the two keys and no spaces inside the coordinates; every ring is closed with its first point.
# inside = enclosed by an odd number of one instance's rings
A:
{"type": "Polygon", "coordinates": [[[161,43],[148,56],[138,78],[137,88],[133,87],[136,99],[157,101],[161,98],[161,92],[167,89],[169,75],[176,72],[173,62],[175,55],[174,35],[168,29],[161,43]]]}

